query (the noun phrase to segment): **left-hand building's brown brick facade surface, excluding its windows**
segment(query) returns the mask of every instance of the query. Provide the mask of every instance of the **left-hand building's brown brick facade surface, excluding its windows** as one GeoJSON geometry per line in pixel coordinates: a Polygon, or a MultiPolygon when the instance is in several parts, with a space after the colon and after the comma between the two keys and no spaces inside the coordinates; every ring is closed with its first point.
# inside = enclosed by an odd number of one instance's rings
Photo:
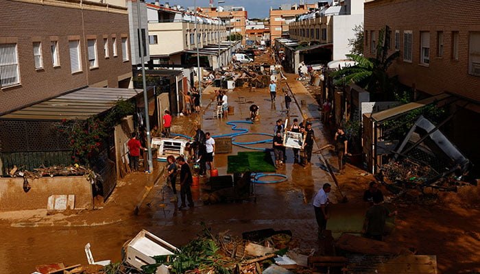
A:
{"type": "MultiPolygon", "coordinates": [[[[75,1],[64,5],[80,7],[75,1]]],[[[106,12],[106,5],[101,4],[81,10],[10,0],[0,0],[0,6],[5,19],[0,23],[0,44],[16,43],[20,76],[19,85],[1,88],[0,114],[82,86],[97,84],[116,88],[120,80],[131,75],[130,42],[127,42],[129,61],[122,60],[121,37],[128,37],[129,33],[126,9],[110,8],[110,12],[106,12]],[[112,49],[114,36],[117,57],[112,49]],[[88,65],[86,44],[91,38],[97,39],[95,69],[89,69],[88,65]],[[108,38],[109,58],[104,54],[104,38],[108,38]],[[58,41],[60,65],[56,67],[53,67],[50,47],[53,40],[58,41]],[[82,71],[77,73],[71,72],[69,40],[80,40],[82,71]],[[43,69],[35,68],[33,42],[41,42],[43,69]]]]}

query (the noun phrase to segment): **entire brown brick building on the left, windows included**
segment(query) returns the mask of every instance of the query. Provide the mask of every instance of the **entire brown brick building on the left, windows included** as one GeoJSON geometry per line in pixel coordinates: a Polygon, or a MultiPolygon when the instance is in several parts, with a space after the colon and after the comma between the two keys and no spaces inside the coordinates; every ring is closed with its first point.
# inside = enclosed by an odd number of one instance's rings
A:
{"type": "Polygon", "coordinates": [[[127,88],[128,11],[88,1],[0,0],[0,114],[84,86],[127,88]]]}

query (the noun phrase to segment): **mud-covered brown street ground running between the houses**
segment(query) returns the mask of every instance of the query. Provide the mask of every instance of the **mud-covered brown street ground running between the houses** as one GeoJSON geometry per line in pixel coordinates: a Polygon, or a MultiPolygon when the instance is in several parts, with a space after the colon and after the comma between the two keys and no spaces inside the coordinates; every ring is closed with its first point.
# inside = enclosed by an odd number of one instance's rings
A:
{"type": "MultiPolygon", "coordinates": [[[[302,113],[313,122],[317,147],[331,142],[320,122],[318,105],[295,75],[287,75],[298,101],[291,104],[290,119],[302,121],[302,113]],[[300,101],[306,101],[302,105],[300,101]],[[300,108],[298,108],[300,107],[300,108]],[[302,110],[302,112],[300,112],[302,110]]],[[[280,84],[285,87],[285,82],[280,84]]],[[[281,90],[281,89],[278,90],[281,90]]],[[[234,114],[223,119],[213,118],[215,90],[206,88],[203,93],[205,108],[202,116],[178,117],[174,124],[184,127],[184,134],[191,135],[190,119],[202,121],[204,132],[213,135],[228,134],[231,127],[226,121],[246,121],[248,108],[252,103],[260,107],[260,121],[253,125],[239,124],[250,132],[273,133],[277,119],[287,117],[283,94],[278,92],[276,101],[269,99],[267,88],[250,91],[236,88],[228,92],[229,104],[234,107],[234,114]]],[[[175,126],[173,127],[175,128],[175,126]]],[[[237,141],[263,140],[265,136],[241,136],[237,141]]],[[[270,147],[271,144],[254,145],[270,147]]],[[[232,154],[246,149],[233,147],[232,154]]],[[[314,147],[315,150],[315,147],[314,147]]],[[[219,175],[225,175],[227,154],[215,155],[215,168],[219,175]]],[[[336,166],[333,153],[326,151],[326,157],[336,166]]],[[[180,246],[194,238],[202,229],[204,222],[213,232],[230,230],[232,234],[241,235],[256,229],[289,229],[294,239],[300,241],[300,247],[318,249],[317,224],[315,222],[311,201],[315,192],[326,182],[332,183],[331,177],[322,169],[319,158],[313,156],[311,169],[303,169],[293,164],[291,150],[287,149],[287,164],[277,172],[288,176],[287,182],[279,184],[256,184],[254,199],[241,202],[204,205],[202,185],[206,178],[200,180],[200,188],[193,188],[195,208],[179,210],[177,203],[171,203],[171,188],[165,184],[161,168],[152,175],[128,175],[119,182],[117,189],[99,210],[80,214],[54,214],[45,216],[44,211],[37,212],[2,212],[0,225],[0,273],[32,273],[36,265],[64,262],[65,265],[86,264],[84,245],[91,243],[95,260],[121,260],[123,243],[134,237],[141,229],[146,229],[156,236],[167,240],[172,245],[180,246]],[[158,178],[157,184],[143,199],[138,214],[135,206],[142,201],[145,186],[150,187],[158,178]],[[164,207],[162,204],[165,203],[164,207]],[[38,226],[38,227],[32,227],[38,226]]],[[[159,166],[163,166],[159,162],[159,166]]],[[[373,177],[371,174],[347,165],[346,174],[338,177],[343,192],[348,196],[348,203],[334,204],[331,226],[352,225],[358,227],[363,221],[365,204],[361,202],[361,193],[373,177]]],[[[331,199],[336,203],[337,189],[333,184],[331,199]]],[[[417,204],[400,205],[400,215],[396,221],[396,231],[386,238],[387,242],[400,246],[412,247],[419,254],[437,256],[440,273],[456,273],[458,270],[474,267],[480,256],[480,217],[478,208],[463,208],[461,197],[449,194],[445,201],[448,206],[419,206],[417,204]],[[455,219],[455,222],[452,220],[455,219]]],[[[466,195],[461,193],[459,195],[466,195]]]]}

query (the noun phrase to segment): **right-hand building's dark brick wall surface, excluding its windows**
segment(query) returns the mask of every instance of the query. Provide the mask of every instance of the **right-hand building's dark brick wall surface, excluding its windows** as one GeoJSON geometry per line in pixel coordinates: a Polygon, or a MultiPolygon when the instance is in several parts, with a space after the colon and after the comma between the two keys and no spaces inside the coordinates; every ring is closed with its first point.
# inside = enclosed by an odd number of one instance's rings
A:
{"type": "Polygon", "coordinates": [[[394,34],[400,32],[400,57],[389,73],[398,75],[400,82],[435,95],[452,92],[480,101],[480,77],[468,74],[469,32],[480,32],[480,1],[436,0],[377,0],[365,3],[365,32],[368,42],[364,53],[372,57],[370,31],[388,25],[394,34]],[[403,32],[411,30],[412,62],[403,61],[403,32]],[[420,32],[430,32],[430,62],[420,64],[420,32]],[[443,56],[437,57],[437,32],[443,32],[443,56]],[[459,32],[458,60],[452,58],[452,32],[459,32]]]}

